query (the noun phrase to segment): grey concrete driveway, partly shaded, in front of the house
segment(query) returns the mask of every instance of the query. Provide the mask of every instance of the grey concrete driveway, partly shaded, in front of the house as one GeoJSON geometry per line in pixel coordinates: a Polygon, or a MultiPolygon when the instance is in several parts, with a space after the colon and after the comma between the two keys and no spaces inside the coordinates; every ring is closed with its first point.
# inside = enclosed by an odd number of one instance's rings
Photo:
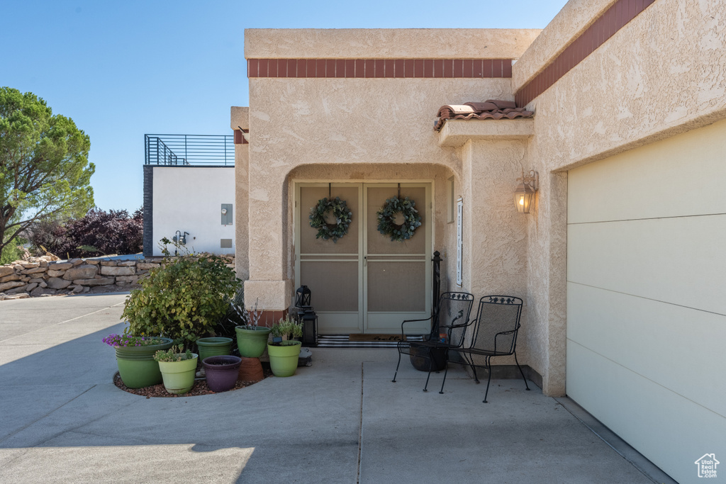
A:
{"type": "Polygon", "coordinates": [[[125,297],[0,301],[0,482],[668,479],[623,443],[613,450],[574,403],[531,383],[526,392],[521,380],[494,380],[486,404],[484,385],[457,367],[444,395],[441,375],[423,393],[425,373],[406,362],[392,383],[392,349],[313,349],[313,366],[294,377],[217,395],[125,393],[101,342],[123,330],[125,297]]]}

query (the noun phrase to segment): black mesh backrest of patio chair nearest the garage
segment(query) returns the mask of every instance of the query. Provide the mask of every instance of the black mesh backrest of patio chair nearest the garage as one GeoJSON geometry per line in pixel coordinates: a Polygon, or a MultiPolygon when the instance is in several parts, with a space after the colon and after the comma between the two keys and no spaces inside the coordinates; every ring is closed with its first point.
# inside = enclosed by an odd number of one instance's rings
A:
{"type": "Polygon", "coordinates": [[[517,345],[522,300],[514,296],[484,296],[476,312],[470,348],[492,355],[511,355],[517,345]]]}

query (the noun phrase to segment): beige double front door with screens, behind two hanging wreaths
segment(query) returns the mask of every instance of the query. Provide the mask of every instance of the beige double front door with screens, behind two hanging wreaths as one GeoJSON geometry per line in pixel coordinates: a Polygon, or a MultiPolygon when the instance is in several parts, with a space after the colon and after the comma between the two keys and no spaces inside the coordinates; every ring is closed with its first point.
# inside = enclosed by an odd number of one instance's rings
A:
{"type": "MultiPolygon", "coordinates": [[[[431,211],[429,183],[295,184],[295,287],[310,288],[320,334],[395,334],[404,319],[428,318],[431,211]],[[378,231],[376,213],[397,196],[413,200],[421,216],[421,226],[403,241],[378,231]],[[311,208],[325,197],[345,200],[352,213],[337,242],[317,239],[309,223],[311,208]]],[[[327,221],[335,223],[332,216],[327,221]]],[[[393,221],[400,223],[400,215],[393,221]]],[[[426,321],[409,332],[429,329],[426,321]]]]}

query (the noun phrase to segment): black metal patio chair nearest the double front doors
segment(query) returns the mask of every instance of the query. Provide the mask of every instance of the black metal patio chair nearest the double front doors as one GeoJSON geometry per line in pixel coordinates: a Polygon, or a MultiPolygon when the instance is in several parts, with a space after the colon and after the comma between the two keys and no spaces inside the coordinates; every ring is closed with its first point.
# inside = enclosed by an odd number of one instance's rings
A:
{"type": "Polygon", "coordinates": [[[396,364],[393,382],[396,382],[396,375],[399,373],[402,354],[420,357],[428,362],[428,376],[426,385],[423,387],[423,391],[427,391],[431,372],[438,372],[439,369],[446,366],[446,350],[458,348],[464,343],[473,303],[474,296],[468,292],[444,292],[439,298],[436,312],[431,317],[403,321],[401,323],[401,341],[396,345],[399,350],[399,363],[396,364]],[[431,320],[431,332],[424,336],[423,340],[406,340],[405,326],[407,323],[429,320],[431,320]]]}

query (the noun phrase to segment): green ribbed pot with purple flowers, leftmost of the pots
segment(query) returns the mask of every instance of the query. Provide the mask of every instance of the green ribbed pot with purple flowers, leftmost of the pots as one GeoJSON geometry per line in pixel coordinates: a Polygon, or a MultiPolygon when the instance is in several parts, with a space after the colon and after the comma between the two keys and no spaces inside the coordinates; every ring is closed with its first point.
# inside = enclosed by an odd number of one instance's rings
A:
{"type": "Polygon", "coordinates": [[[159,365],[154,353],[171,348],[170,338],[108,335],[103,342],[116,350],[118,374],[123,385],[129,388],[143,388],[161,383],[159,365]]]}

